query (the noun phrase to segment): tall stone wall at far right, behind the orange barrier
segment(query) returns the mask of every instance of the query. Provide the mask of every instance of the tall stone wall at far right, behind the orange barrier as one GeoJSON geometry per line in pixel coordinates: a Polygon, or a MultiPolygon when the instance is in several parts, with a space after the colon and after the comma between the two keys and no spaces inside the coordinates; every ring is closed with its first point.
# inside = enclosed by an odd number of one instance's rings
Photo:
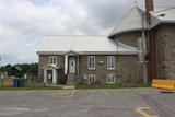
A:
{"type": "Polygon", "coordinates": [[[175,78],[175,24],[161,24],[155,32],[158,75],[162,79],[175,78]]]}

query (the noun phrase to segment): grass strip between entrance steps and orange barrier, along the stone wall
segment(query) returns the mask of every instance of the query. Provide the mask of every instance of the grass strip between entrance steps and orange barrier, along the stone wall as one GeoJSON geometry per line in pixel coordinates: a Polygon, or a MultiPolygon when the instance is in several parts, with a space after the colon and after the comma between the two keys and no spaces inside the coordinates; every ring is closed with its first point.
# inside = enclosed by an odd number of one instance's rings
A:
{"type": "Polygon", "coordinates": [[[150,87],[151,83],[142,84],[142,83],[132,83],[132,84],[122,84],[122,83],[115,83],[115,84],[78,84],[75,89],[80,90],[89,90],[89,89],[126,89],[126,87],[150,87]]]}

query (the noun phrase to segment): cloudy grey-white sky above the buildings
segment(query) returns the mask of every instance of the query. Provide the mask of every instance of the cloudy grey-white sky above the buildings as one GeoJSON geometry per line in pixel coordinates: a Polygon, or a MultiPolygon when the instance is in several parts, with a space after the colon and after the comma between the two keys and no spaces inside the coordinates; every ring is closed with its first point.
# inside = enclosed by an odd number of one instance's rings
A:
{"type": "MultiPolygon", "coordinates": [[[[175,0],[154,4],[173,7],[175,0]]],[[[37,62],[46,35],[107,36],[135,5],[136,0],[0,0],[0,65],[37,62]]]]}

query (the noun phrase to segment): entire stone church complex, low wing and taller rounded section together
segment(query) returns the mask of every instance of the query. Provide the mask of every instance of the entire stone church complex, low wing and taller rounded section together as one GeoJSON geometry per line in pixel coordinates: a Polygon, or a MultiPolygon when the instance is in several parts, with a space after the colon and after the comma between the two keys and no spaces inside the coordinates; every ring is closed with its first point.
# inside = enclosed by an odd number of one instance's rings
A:
{"type": "Polygon", "coordinates": [[[107,37],[46,36],[39,77],[55,84],[174,79],[174,14],[175,8],[155,11],[145,0],[145,9],[133,7],[107,37]]]}

